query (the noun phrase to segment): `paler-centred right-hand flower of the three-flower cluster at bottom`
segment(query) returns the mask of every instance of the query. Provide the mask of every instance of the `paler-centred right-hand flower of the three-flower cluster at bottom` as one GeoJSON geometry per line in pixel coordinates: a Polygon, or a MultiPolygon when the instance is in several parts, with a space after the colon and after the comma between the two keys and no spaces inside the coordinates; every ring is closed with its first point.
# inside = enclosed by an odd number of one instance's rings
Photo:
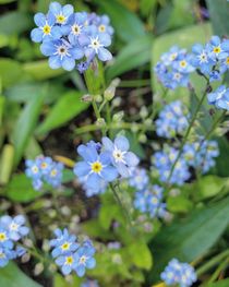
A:
{"type": "Polygon", "coordinates": [[[92,246],[84,246],[75,252],[75,259],[77,262],[75,272],[80,277],[84,276],[86,268],[92,270],[95,267],[96,261],[93,258],[94,254],[95,249],[92,246]]]}

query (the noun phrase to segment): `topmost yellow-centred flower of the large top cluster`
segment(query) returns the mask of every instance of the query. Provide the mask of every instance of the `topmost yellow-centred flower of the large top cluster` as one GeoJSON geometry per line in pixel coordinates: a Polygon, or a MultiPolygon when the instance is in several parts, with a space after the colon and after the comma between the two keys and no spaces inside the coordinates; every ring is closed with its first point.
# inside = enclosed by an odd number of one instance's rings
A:
{"type": "Polygon", "coordinates": [[[55,15],[56,23],[63,25],[67,23],[69,16],[73,14],[74,9],[70,4],[62,7],[58,2],[51,2],[49,5],[49,11],[55,15]]]}

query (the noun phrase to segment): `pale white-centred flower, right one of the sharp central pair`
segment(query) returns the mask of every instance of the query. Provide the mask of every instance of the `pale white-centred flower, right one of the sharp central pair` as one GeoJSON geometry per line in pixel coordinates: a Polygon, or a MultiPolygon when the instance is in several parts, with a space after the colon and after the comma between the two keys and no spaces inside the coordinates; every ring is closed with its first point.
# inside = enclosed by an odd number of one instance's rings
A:
{"type": "Polygon", "coordinates": [[[103,137],[105,151],[110,154],[113,166],[119,174],[126,178],[131,176],[131,168],[137,166],[138,158],[132,152],[129,152],[130,143],[126,137],[119,135],[112,143],[108,137],[103,137]]]}

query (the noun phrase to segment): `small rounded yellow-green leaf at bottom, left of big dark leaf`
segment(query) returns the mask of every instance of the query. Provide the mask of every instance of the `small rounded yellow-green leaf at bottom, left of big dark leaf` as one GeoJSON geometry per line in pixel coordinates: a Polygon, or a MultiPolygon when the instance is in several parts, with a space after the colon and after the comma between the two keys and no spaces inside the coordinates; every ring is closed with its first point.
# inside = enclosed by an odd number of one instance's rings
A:
{"type": "Polygon", "coordinates": [[[145,270],[149,270],[152,267],[152,254],[144,241],[137,240],[137,242],[131,244],[128,250],[134,265],[145,270]]]}

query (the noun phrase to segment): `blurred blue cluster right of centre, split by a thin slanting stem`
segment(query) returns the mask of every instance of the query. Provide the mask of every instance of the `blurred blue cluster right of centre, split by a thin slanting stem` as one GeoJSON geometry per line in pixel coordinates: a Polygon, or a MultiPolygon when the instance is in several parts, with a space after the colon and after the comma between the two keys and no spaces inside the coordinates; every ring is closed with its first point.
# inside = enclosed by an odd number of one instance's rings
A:
{"type": "Polygon", "coordinates": [[[176,162],[179,151],[174,147],[164,147],[162,151],[156,152],[153,156],[154,167],[156,168],[159,180],[161,182],[169,182],[171,184],[182,186],[186,181],[191,174],[189,166],[184,158],[179,158],[174,166],[173,172],[169,179],[171,168],[176,162]]]}

